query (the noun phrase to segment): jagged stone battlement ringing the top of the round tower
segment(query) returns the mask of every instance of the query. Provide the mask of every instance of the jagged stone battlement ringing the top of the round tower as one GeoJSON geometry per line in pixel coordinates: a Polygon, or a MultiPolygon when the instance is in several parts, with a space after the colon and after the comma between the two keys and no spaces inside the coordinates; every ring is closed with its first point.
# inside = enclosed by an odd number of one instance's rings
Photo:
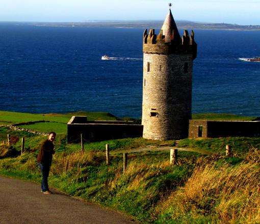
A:
{"type": "Polygon", "coordinates": [[[149,31],[147,35],[147,29],[144,31],[143,36],[143,53],[147,54],[178,54],[187,55],[191,54],[194,60],[197,57],[197,43],[194,40],[193,30],[191,36],[189,36],[188,30],[185,30],[183,38],[181,39],[176,30],[172,31],[170,41],[166,41],[163,30],[157,35],[154,33],[154,29],[149,31]]]}

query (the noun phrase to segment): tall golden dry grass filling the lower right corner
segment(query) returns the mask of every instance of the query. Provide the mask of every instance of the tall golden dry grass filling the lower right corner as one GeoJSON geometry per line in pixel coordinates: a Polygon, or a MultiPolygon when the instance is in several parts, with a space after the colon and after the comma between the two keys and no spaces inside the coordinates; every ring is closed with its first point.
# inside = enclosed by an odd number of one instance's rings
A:
{"type": "MultiPolygon", "coordinates": [[[[257,152],[258,153],[258,152],[257,152]]],[[[249,157],[252,157],[251,155],[249,157]]],[[[159,204],[167,223],[259,223],[260,168],[253,160],[198,160],[183,188],[159,204]]]]}

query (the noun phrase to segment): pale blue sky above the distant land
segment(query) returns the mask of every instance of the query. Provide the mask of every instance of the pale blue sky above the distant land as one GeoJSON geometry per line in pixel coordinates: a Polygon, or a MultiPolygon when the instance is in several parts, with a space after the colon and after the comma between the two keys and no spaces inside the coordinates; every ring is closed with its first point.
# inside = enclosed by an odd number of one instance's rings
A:
{"type": "MultiPolygon", "coordinates": [[[[166,0],[0,0],[0,21],[164,20],[166,0]]],[[[174,0],[175,20],[260,25],[260,0],[174,0]]]]}

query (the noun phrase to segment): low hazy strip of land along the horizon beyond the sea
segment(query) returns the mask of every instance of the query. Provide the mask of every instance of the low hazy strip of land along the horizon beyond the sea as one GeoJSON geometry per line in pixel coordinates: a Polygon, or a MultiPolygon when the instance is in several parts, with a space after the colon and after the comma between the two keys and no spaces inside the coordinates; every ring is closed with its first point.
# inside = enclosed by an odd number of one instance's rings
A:
{"type": "MultiPolygon", "coordinates": [[[[51,27],[111,27],[111,28],[143,28],[160,29],[163,20],[136,20],[136,21],[108,21],[92,20],[82,23],[38,23],[38,22],[0,22],[15,23],[17,25],[51,26],[51,27]]],[[[203,29],[203,30],[260,30],[260,25],[236,25],[236,24],[213,24],[197,23],[186,20],[176,20],[178,29],[203,29]]]]}

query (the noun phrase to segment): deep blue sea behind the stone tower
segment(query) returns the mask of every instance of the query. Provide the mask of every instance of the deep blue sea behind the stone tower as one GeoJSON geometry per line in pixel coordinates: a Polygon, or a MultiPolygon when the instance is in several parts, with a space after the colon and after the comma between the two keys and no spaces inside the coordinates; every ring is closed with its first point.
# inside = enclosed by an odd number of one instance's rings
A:
{"type": "MultiPolygon", "coordinates": [[[[0,110],[141,118],[143,32],[0,23],[0,110]]],[[[260,117],[260,31],[194,34],[192,113],[260,117]]]]}

